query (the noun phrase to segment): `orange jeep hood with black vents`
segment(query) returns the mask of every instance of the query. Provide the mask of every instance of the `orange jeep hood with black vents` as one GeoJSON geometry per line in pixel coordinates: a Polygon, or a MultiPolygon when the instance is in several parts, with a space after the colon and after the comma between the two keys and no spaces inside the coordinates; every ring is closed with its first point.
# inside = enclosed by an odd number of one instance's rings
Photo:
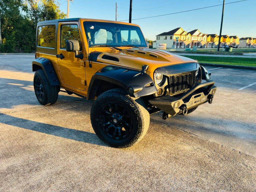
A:
{"type": "Polygon", "coordinates": [[[148,71],[154,72],[156,68],[175,65],[180,63],[196,62],[187,57],[182,57],[169,52],[148,49],[148,48],[132,48],[122,51],[111,52],[93,52],[90,53],[90,60],[93,56],[94,61],[118,65],[122,67],[141,70],[143,65],[148,65],[148,71]]]}

